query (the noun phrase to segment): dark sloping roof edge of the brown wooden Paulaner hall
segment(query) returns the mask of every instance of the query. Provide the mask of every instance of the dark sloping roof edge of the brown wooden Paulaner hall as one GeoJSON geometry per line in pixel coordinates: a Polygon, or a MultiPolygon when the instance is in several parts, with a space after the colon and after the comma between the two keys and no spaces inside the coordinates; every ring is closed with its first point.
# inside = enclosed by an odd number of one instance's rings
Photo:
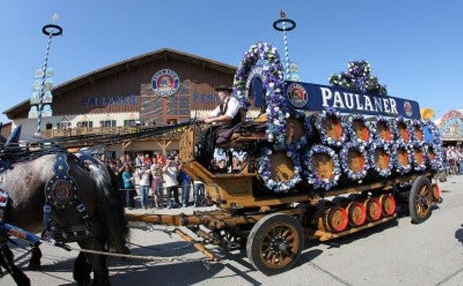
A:
{"type": "MultiPolygon", "coordinates": [[[[98,78],[103,78],[105,76],[109,76],[112,73],[116,73],[118,71],[122,71],[124,69],[130,69],[132,66],[138,66],[140,64],[144,64],[146,62],[152,62],[156,59],[180,59],[186,62],[194,62],[196,64],[201,64],[204,68],[216,69],[218,71],[223,71],[224,73],[235,73],[236,66],[231,66],[229,64],[224,64],[222,62],[217,62],[213,59],[207,59],[205,57],[199,57],[197,55],[192,55],[187,52],[181,52],[179,50],[173,50],[170,48],[161,48],[159,50],[154,50],[152,52],[147,52],[142,55],[138,55],[136,57],[130,57],[128,59],[123,59],[122,61],[116,62],[114,64],[109,64],[108,66],[103,66],[100,69],[95,69],[94,71],[90,71],[88,73],[83,73],[81,76],[77,76],[76,78],[72,78],[70,80],[61,83],[53,87],[53,95],[58,95],[61,92],[65,92],[66,90],[71,90],[79,85],[83,85],[88,83],[89,81],[92,82],[93,80],[97,80],[98,78]]],[[[25,101],[21,101],[20,103],[8,108],[4,111],[4,114],[8,116],[8,118],[13,117],[16,113],[20,113],[23,110],[29,109],[29,101],[30,99],[26,99],[25,101]]]]}

